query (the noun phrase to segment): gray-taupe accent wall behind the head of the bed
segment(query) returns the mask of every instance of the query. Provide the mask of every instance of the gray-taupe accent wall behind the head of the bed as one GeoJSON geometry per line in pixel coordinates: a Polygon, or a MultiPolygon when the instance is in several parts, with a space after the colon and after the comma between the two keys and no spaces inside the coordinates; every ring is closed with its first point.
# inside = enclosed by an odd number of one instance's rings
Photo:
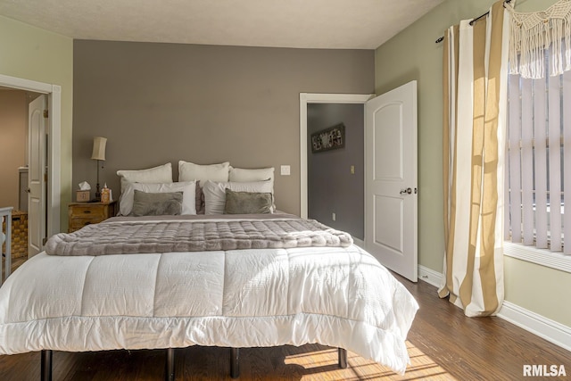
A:
{"type": "MultiPolygon", "coordinates": [[[[92,140],[107,137],[100,183],[178,161],[275,167],[277,208],[300,213],[300,93],[369,94],[373,50],[75,40],[73,186],[95,187],[92,140]],[[280,165],[291,176],[280,176],[280,165]]],[[[92,195],[93,196],[93,195],[92,195]]]]}

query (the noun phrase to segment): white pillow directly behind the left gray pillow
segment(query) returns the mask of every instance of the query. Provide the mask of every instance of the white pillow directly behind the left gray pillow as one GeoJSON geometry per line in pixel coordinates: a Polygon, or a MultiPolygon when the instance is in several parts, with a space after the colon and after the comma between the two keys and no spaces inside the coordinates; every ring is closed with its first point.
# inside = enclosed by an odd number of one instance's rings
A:
{"type": "Polygon", "coordinates": [[[145,193],[170,193],[182,192],[182,211],[180,214],[196,214],[196,204],[194,201],[194,191],[196,183],[194,181],[186,181],[179,183],[127,183],[123,189],[119,203],[119,211],[121,216],[128,216],[133,211],[133,202],[135,198],[135,190],[145,193]]]}

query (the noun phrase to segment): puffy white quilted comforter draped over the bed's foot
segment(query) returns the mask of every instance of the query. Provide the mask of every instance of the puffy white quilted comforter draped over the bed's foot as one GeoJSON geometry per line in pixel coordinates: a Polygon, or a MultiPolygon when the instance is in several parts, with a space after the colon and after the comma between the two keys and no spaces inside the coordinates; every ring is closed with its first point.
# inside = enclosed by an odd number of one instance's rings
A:
{"type": "Polygon", "coordinates": [[[0,288],[0,353],[319,343],[402,373],[417,310],[356,245],[40,253],[0,288]]]}

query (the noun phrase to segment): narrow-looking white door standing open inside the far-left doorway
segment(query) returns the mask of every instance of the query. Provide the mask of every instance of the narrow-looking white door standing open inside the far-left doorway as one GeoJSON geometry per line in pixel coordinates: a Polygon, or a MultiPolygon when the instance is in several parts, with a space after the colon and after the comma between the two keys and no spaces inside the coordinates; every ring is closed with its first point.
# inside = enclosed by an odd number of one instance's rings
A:
{"type": "Polygon", "coordinates": [[[40,95],[28,107],[28,257],[40,253],[46,237],[46,125],[47,97],[40,95]]]}

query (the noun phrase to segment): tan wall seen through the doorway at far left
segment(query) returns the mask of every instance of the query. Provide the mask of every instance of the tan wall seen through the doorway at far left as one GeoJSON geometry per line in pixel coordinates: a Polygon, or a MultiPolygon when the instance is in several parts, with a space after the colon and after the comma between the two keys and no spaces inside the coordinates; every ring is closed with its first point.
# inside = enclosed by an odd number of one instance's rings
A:
{"type": "Polygon", "coordinates": [[[26,163],[28,104],[25,91],[0,90],[0,206],[18,208],[19,171],[26,163]]]}

